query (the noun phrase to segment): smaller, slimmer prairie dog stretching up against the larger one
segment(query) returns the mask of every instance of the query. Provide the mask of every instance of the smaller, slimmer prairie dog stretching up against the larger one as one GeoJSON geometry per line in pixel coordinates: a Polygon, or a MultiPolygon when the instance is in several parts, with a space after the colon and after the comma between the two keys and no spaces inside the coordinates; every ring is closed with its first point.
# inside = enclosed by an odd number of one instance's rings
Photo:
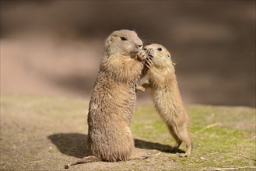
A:
{"type": "Polygon", "coordinates": [[[151,89],[156,110],[163,117],[170,134],[177,141],[174,149],[178,148],[184,141],[187,152],[180,156],[188,157],[193,146],[189,133],[189,118],[181,99],[170,53],[167,48],[160,44],[150,44],[144,47],[144,50],[152,57],[147,58],[145,63],[146,67],[149,68],[148,80],[136,89],[141,91],[146,88],[151,89]]]}

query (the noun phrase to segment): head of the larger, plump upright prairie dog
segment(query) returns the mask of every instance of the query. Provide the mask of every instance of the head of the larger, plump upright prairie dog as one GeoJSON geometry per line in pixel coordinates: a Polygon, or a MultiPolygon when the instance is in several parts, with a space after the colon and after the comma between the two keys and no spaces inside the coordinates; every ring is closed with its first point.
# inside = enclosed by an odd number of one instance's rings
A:
{"type": "Polygon", "coordinates": [[[142,50],[142,40],[137,33],[131,30],[117,30],[107,37],[105,42],[105,51],[108,54],[123,54],[135,56],[142,50]]]}

